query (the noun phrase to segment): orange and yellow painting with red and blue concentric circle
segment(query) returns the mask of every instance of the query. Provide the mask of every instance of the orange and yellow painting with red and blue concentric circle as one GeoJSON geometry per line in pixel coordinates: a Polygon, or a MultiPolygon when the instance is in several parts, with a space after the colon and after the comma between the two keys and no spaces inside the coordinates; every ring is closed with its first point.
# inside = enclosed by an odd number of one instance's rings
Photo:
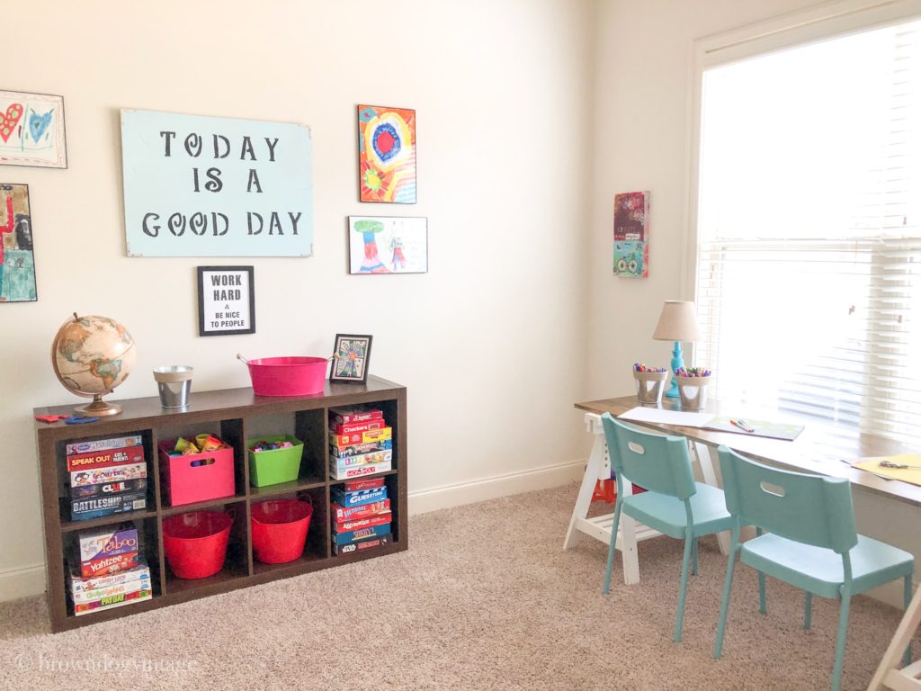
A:
{"type": "Polygon", "coordinates": [[[415,204],[415,111],[358,106],[359,199],[415,204]]]}

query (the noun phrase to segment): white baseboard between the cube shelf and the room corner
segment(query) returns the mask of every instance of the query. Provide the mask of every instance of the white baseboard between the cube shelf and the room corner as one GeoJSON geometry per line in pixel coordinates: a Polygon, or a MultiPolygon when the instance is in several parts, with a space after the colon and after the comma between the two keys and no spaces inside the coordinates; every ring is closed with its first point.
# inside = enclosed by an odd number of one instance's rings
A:
{"type": "Polygon", "coordinates": [[[409,493],[409,515],[449,509],[486,499],[508,497],[535,489],[558,487],[582,479],[585,460],[545,465],[542,468],[484,477],[480,480],[420,489],[409,493]]]}

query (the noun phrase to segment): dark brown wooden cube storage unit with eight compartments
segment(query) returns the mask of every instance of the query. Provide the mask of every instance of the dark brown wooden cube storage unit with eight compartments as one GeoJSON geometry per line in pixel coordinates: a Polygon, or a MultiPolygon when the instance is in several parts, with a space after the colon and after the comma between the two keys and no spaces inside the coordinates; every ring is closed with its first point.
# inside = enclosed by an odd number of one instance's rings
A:
{"type": "MultiPolygon", "coordinates": [[[[276,398],[254,395],[252,389],[198,392],[192,394],[192,409],[181,413],[160,407],[157,396],[120,401],[122,413],[103,417],[91,425],[67,426],[63,422],[46,425],[34,423],[41,472],[41,499],[44,521],[46,595],[51,614],[52,630],[63,631],[100,621],[145,612],[157,607],[182,603],[219,592],[243,588],[269,580],[330,568],[339,564],[383,556],[408,548],[406,512],[406,389],[401,384],[377,377],[368,377],[367,384],[326,383],[321,394],[303,397],[276,398]],[[330,489],[342,485],[329,474],[328,415],[333,407],[368,404],[384,412],[393,428],[393,469],[373,475],[383,476],[391,498],[392,542],[355,554],[334,556],[330,537],[330,489]],[[251,420],[260,416],[290,416],[294,437],[302,442],[297,470],[287,459],[289,467],[284,482],[264,484],[266,475],[261,465],[251,468],[248,458],[249,439],[267,439],[250,433],[251,420]],[[159,451],[163,445],[175,444],[180,436],[193,436],[208,431],[223,439],[230,447],[218,465],[199,463],[188,468],[173,466],[168,455],[159,451]],[[147,464],[146,508],[72,521],[70,499],[66,485],[68,473],[65,448],[68,443],[83,440],[109,439],[124,435],[139,435],[147,464]],[[214,466],[225,468],[220,480],[198,483],[195,475],[202,468],[214,472],[214,466]],[[228,470],[232,471],[227,484],[228,470]],[[260,486],[255,483],[259,482],[260,486]],[[208,487],[207,498],[189,498],[182,492],[202,484],[208,487]],[[220,487],[220,489],[218,489],[220,487]],[[229,492],[228,496],[216,496],[229,492]],[[303,552],[297,559],[268,564],[254,558],[251,535],[251,507],[267,499],[305,499],[313,505],[309,530],[303,552]],[[173,505],[183,499],[191,503],[173,505]],[[192,511],[223,511],[234,516],[227,539],[227,555],[222,568],[203,579],[180,579],[169,568],[164,551],[163,521],[171,516],[192,511]],[[150,567],[153,598],[76,617],[73,604],[66,594],[66,560],[72,552],[77,535],[84,530],[102,526],[132,523],[143,535],[143,554],[150,567]]],[[[36,408],[34,415],[72,415],[73,404],[36,408]]],[[[287,450],[280,450],[287,451],[287,450]]],[[[264,452],[263,452],[264,453],[264,452]]],[[[268,451],[274,453],[274,451],[268,451]]],[[[189,459],[189,456],[181,458],[189,459]]],[[[284,456],[283,456],[284,458],[284,456]]],[[[274,468],[269,477],[274,475],[274,468]]]]}

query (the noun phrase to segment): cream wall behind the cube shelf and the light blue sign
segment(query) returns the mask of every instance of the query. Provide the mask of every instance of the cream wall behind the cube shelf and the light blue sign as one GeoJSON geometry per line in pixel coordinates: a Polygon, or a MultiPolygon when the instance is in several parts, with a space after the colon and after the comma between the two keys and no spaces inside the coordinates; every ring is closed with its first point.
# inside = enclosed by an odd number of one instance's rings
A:
{"type": "MultiPolygon", "coordinates": [[[[90,0],[5,7],[0,88],[64,97],[67,170],[27,183],[39,299],[0,306],[0,599],[44,589],[31,410],[81,402],[52,372],[69,314],[134,335],[114,398],[249,385],[236,359],[327,355],[374,334],[371,373],[409,391],[411,509],[578,474],[594,2],[90,0]],[[414,108],[417,205],[357,201],[356,104],[414,108]],[[314,256],[127,258],[119,109],[309,124],[314,256]],[[346,217],[424,216],[425,275],[347,274],[346,217]],[[197,335],[195,266],[255,267],[257,333],[197,335]]],[[[606,251],[605,251],[606,252],[606,251]]]]}

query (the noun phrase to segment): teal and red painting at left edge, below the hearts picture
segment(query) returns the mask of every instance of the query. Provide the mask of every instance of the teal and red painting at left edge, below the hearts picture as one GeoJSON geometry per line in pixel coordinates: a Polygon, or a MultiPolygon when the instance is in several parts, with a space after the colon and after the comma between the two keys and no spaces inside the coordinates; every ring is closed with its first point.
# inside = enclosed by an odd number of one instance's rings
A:
{"type": "Polygon", "coordinates": [[[36,299],[29,185],[0,184],[0,302],[36,299]]]}

